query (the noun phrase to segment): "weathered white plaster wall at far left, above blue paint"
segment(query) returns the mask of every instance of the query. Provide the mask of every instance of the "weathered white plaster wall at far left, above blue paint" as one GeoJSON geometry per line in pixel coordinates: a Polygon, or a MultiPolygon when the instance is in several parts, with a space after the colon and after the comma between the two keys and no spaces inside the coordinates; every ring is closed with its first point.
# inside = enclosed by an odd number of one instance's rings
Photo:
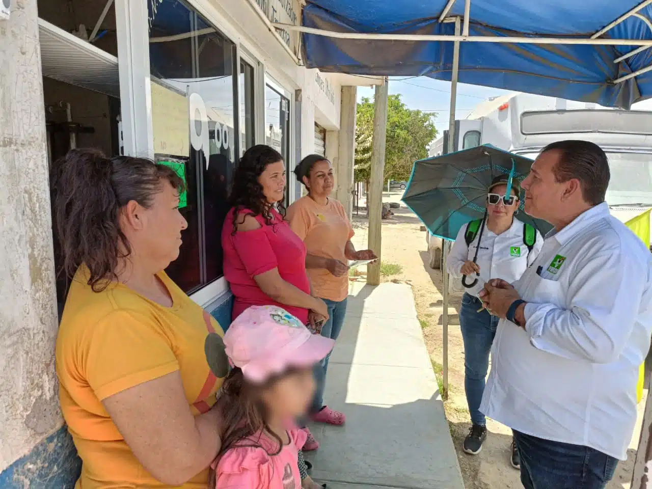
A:
{"type": "Polygon", "coordinates": [[[0,472],[61,426],[37,0],[0,20],[0,472]]]}

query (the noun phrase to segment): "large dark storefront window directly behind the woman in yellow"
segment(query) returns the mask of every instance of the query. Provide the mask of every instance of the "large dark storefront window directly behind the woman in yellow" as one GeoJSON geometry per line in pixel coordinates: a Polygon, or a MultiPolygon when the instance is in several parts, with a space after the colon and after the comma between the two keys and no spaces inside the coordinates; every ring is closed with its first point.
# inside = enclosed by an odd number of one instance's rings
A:
{"type": "Polygon", "coordinates": [[[220,234],[239,154],[235,45],[180,0],[149,0],[155,158],[185,177],[188,220],[168,274],[186,292],[222,276],[220,234]]]}

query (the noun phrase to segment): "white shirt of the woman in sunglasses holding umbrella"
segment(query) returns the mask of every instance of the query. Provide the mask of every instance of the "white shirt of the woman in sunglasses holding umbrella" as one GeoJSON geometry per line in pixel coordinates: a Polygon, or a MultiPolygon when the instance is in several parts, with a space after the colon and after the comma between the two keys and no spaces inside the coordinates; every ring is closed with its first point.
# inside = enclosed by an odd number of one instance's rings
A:
{"type": "MultiPolygon", "coordinates": [[[[462,265],[466,261],[473,261],[480,238],[480,230],[478,230],[475,239],[467,246],[464,239],[466,228],[466,225],[462,226],[457,234],[446,266],[448,273],[459,280],[462,279],[462,265]]],[[[527,265],[537,258],[542,246],[543,238],[537,231],[537,241],[532,251],[529,252],[526,244],[523,243],[523,222],[518,219],[514,219],[509,230],[499,235],[496,235],[485,226],[477,259],[477,264],[480,267],[480,278],[474,287],[468,288],[466,291],[477,296],[484,287],[484,283],[490,278],[502,278],[510,284],[515,282],[526,271],[527,265]]],[[[474,273],[466,279],[466,282],[473,282],[475,278],[477,278],[477,275],[474,273]]]]}

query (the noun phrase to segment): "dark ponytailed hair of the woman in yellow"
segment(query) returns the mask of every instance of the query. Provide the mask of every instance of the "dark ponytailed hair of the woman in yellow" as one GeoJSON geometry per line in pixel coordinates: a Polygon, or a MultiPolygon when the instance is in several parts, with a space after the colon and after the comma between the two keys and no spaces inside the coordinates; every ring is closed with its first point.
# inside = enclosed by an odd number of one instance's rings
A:
{"type": "Polygon", "coordinates": [[[144,158],[107,158],[96,149],[73,149],[55,162],[51,177],[53,227],[63,262],[72,278],[83,264],[88,284],[100,292],[117,279],[119,258],[131,254],[120,229],[120,211],[130,201],[146,209],[167,181],[183,192],[181,177],[168,166],[144,158]]]}

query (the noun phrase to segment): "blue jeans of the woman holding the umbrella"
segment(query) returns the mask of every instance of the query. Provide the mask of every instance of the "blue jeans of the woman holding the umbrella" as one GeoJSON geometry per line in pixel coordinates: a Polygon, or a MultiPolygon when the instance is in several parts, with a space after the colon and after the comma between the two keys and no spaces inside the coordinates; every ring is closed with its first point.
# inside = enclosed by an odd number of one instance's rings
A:
{"type": "Polygon", "coordinates": [[[486,424],[480,412],[484,383],[489,369],[489,353],[496,336],[498,318],[483,310],[480,299],[464,294],[460,309],[460,329],[464,341],[464,390],[473,424],[486,424]]]}

